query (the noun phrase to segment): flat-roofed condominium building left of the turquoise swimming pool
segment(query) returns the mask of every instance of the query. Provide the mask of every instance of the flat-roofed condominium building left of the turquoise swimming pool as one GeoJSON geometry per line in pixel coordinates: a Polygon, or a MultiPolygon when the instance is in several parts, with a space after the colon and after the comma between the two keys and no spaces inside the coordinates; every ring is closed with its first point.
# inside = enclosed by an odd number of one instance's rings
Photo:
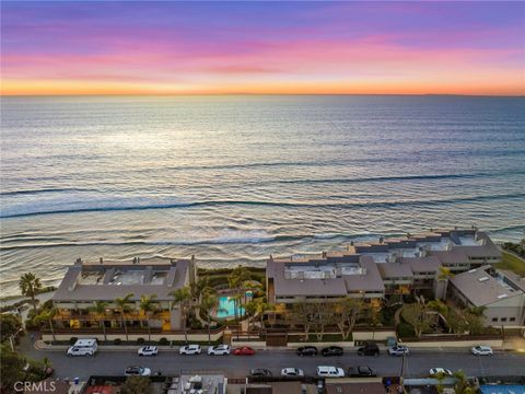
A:
{"type": "Polygon", "coordinates": [[[56,291],[52,302],[58,313],[58,325],[71,328],[127,325],[143,326],[162,331],[182,328],[180,305],[174,303],[173,291],[195,281],[195,259],[133,258],[132,262],[86,263],[78,259],[68,268],[56,291]],[[128,302],[124,308],[117,299],[128,302]],[[154,311],[147,311],[141,296],[152,297],[154,311]],[[96,305],[104,305],[97,312],[96,305]],[[124,309],[124,311],[122,311],[124,309]]]}

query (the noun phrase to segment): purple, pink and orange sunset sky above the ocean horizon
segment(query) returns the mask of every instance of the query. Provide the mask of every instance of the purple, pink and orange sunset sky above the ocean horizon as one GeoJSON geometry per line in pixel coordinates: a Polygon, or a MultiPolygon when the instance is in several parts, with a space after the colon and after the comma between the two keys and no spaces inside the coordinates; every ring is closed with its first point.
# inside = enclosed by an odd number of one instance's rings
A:
{"type": "Polygon", "coordinates": [[[2,94],[525,94],[525,2],[2,1],[2,94]]]}

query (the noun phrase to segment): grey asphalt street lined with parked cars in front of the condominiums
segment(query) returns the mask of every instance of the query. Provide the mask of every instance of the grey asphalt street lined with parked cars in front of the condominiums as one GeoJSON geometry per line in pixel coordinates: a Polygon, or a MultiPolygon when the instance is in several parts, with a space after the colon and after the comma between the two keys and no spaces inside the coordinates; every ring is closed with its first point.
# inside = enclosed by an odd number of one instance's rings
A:
{"type": "MultiPolygon", "coordinates": [[[[203,348],[205,350],[206,348],[203,348]]],[[[205,352],[205,351],[203,351],[205,352]]],[[[244,378],[252,368],[267,368],[279,375],[280,370],[295,367],[307,375],[315,375],[317,366],[337,366],[347,369],[369,366],[377,375],[399,375],[401,358],[386,354],[380,357],[363,357],[348,352],[342,357],[299,357],[290,350],[260,350],[255,356],[179,356],[177,351],[161,351],[156,357],[139,357],[137,351],[98,351],[94,357],[69,358],[65,351],[31,350],[33,358],[48,357],[60,378],[86,379],[90,375],[120,375],[126,367],[142,366],[163,374],[179,373],[182,369],[222,370],[229,378],[244,378]]],[[[405,378],[428,376],[429,369],[442,367],[467,375],[525,375],[525,354],[495,352],[493,356],[474,356],[468,350],[455,352],[443,350],[412,351],[406,357],[405,378]]]]}

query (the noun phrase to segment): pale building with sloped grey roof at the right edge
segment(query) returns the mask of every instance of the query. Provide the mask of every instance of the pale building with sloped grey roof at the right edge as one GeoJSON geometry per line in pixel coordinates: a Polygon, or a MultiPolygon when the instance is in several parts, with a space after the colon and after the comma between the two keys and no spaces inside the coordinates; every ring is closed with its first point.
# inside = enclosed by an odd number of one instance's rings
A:
{"type": "Polygon", "coordinates": [[[525,278],[486,265],[451,279],[450,299],[463,306],[482,308],[485,324],[523,326],[525,324],[525,278]]]}

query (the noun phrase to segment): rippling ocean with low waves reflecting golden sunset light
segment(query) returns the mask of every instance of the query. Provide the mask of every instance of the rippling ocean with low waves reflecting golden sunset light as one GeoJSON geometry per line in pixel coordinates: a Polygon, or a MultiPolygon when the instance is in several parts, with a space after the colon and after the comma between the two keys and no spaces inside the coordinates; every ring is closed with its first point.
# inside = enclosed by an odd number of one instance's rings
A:
{"type": "Polygon", "coordinates": [[[525,231],[525,100],[4,97],[2,292],[77,257],[206,266],[476,224],[525,231]]]}

